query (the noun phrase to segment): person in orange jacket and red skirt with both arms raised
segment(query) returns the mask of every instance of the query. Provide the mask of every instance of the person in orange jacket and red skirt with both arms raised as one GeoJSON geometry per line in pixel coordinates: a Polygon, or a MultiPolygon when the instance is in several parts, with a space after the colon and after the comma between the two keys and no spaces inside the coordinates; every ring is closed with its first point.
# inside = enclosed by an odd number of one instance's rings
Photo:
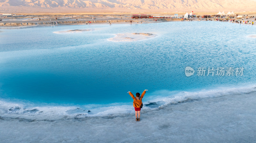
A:
{"type": "Polygon", "coordinates": [[[143,91],[143,93],[140,96],[140,93],[136,93],[136,97],[134,97],[134,95],[132,94],[131,91],[127,92],[129,93],[129,95],[132,97],[133,99],[133,107],[135,110],[135,117],[136,117],[136,121],[140,121],[140,109],[142,108],[143,104],[142,104],[142,98],[144,97],[145,93],[146,93],[147,89],[143,91]],[[138,116],[137,116],[138,114],[138,116]]]}

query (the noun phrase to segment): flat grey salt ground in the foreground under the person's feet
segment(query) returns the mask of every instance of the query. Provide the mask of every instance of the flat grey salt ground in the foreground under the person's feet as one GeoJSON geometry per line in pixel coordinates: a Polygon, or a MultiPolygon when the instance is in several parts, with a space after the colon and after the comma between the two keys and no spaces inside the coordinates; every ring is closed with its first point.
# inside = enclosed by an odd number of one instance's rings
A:
{"type": "Polygon", "coordinates": [[[57,121],[0,117],[1,143],[218,142],[256,139],[256,92],[188,100],[141,111],[141,120],[103,116],[57,121]]]}

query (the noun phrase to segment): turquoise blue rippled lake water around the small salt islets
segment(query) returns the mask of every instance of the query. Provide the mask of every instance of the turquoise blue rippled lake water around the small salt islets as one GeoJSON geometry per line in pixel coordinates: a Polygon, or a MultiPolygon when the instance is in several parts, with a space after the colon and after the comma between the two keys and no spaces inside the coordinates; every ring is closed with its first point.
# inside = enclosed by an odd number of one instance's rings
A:
{"type": "MultiPolygon", "coordinates": [[[[131,102],[180,91],[236,87],[256,81],[255,26],[193,21],[65,25],[1,30],[0,98],[51,104],[131,102]],[[88,31],[56,33],[76,29],[88,31]],[[55,32],[55,33],[53,33],[55,32]],[[156,37],[113,42],[117,33],[156,37]],[[189,66],[244,68],[243,76],[185,75],[189,66]]],[[[215,73],[216,74],[216,73],[215,73]]]]}

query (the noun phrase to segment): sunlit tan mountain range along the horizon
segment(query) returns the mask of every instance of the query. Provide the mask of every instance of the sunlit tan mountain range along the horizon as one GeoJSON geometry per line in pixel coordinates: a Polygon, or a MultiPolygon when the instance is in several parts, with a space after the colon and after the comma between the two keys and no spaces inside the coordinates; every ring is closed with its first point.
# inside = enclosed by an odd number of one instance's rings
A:
{"type": "MultiPolygon", "coordinates": [[[[143,11],[256,11],[256,0],[0,0],[0,10],[28,8],[97,8],[97,10],[143,11]],[[2,8],[1,8],[2,7],[2,8]],[[5,9],[3,9],[3,7],[5,9]]],[[[3,11],[4,12],[4,11],[3,11]]]]}

